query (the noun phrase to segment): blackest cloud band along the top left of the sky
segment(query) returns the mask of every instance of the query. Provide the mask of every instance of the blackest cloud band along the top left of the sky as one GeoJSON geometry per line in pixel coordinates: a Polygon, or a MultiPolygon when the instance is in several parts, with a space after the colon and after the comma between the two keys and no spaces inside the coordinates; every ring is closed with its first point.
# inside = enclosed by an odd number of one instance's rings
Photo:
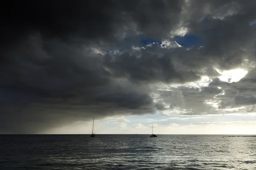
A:
{"type": "Polygon", "coordinates": [[[182,0],[11,0],[1,8],[1,37],[12,42],[39,31],[43,38],[82,42],[113,40],[137,32],[162,38],[179,23],[182,4],[182,0]]]}

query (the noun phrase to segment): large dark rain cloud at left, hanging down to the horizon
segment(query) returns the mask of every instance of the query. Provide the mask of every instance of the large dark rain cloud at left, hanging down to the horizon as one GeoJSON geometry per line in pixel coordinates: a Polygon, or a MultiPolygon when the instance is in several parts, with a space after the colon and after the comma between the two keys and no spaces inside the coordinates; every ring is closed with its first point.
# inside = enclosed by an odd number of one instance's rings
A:
{"type": "Polygon", "coordinates": [[[154,113],[150,90],[115,79],[101,54],[39,36],[23,46],[1,68],[2,130],[34,133],[88,116],[154,113]]]}

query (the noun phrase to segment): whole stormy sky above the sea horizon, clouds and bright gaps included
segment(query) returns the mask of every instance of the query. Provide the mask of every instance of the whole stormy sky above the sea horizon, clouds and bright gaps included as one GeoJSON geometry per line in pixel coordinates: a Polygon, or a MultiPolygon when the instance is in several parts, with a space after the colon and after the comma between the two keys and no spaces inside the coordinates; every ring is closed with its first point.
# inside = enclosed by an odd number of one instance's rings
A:
{"type": "Polygon", "coordinates": [[[0,134],[255,134],[255,0],[9,0],[0,134]]]}

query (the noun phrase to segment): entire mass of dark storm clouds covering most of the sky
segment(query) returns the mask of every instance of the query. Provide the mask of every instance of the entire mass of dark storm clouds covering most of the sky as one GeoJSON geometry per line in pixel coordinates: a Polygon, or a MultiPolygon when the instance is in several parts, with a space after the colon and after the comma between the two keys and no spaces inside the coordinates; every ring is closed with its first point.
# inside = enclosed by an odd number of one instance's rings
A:
{"type": "MultiPolygon", "coordinates": [[[[0,131],[39,133],[91,116],[164,110],[153,102],[152,83],[214,78],[215,68],[255,59],[255,11],[254,1],[239,0],[8,1],[1,6],[0,131]],[[142,38],[174,40],[180,28],[203,47],[130,50],[142,38]],[[106,54],[113,50],[122,53],[106,54]]],[[[195,97],[211,99],[221,92],[217,87],[234,99],[236,90],[246,92],[249,80],[242,81],[183,89],[186,107],[197,105],[195,97]]],[[[238,105],[253,103],[241,95],[247,102],[239,96],[238,105]]]]}

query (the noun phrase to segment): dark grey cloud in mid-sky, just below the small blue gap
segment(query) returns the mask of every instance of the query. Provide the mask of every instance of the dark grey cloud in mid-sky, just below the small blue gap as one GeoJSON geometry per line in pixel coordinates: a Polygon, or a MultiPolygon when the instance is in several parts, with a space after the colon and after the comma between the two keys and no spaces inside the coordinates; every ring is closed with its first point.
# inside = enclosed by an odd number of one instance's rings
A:
{"type": "Polygon", "coordinates": [[[175,69],[171,54],[158,57],[145,50],[142,50],[140,58],[128,53],[116,56],[114,59],[108,57],[106,65],[116,77],[128,77],[131,81],[189,82],[200,78],[194,71],[175,69]]]}

